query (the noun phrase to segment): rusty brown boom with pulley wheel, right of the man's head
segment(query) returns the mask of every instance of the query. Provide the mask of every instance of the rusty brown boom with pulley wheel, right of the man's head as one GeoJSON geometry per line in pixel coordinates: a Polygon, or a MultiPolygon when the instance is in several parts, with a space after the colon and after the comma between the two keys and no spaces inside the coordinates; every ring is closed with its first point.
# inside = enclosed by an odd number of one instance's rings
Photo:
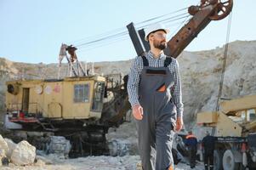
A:
{"type": "Polygon", "coordinates": [[[191,6],[188,11],[193,17],[183,26],[174,37],[168,41],[164,53],[177,58],[191,41],[211,22],[225,18],[233,6],[233,1],[201,1],[200,6],[191,6]]]}

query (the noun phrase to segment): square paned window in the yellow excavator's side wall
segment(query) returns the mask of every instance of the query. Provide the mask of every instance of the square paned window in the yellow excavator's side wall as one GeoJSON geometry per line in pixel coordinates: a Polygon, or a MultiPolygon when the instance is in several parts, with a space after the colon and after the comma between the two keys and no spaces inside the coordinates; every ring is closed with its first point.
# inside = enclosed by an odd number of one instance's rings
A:
{"type": "Polygon", "coordinates": [[[89,101],[89,84],[75,84],[74,86],[74,102],[89,101]]]}

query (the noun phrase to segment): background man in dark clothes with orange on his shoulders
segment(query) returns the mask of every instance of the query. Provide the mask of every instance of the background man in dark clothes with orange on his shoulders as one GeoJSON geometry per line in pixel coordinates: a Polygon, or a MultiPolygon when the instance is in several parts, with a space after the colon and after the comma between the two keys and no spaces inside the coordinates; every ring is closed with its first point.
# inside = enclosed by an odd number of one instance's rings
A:
{"type": "Polygon", "coordinates": [[[196,167],[197,139],[192,131],[185,137],[185,145],[188,146],[189,150],[190,166],[194,168],[196,167]]]}

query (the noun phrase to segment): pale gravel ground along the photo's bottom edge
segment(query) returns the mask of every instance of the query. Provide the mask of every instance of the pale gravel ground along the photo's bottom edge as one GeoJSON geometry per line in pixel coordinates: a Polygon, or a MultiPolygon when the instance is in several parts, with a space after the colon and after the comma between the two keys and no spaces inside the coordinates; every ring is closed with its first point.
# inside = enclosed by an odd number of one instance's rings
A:
{"type": "MultiPolygon", "coordinates": [[[[9,164],[9,167],[0,167],[2,170],[139,170],[139,156],[88,156],[77,159],[67,160],[51,160],[52,165],[45,165],[43,162],[37,162],[35,165],[18,167],[14,164],[9,164]]],[[[191,169],[185,163],[179,163],[175,170],[191,169]]],[[[193,170],[202,170],[202,162],[196,164],[193,170]]]]}

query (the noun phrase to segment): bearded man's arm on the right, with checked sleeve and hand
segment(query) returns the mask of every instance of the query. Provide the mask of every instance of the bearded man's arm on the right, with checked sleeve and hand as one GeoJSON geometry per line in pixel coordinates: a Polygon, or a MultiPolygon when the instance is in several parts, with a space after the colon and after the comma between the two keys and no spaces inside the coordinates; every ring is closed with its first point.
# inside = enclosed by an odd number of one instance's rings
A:
{"type": "Polygon", "coordinates": [[[181,93],[181,82],[180,82],[180,72],[179,63],[177,59],[174,59],[174,88],[171,90],[174,105],[177,109],[177,122],[176,130],[179,131],[183,126],[183,103],[182,103],[182,93],[181,93]]]}

